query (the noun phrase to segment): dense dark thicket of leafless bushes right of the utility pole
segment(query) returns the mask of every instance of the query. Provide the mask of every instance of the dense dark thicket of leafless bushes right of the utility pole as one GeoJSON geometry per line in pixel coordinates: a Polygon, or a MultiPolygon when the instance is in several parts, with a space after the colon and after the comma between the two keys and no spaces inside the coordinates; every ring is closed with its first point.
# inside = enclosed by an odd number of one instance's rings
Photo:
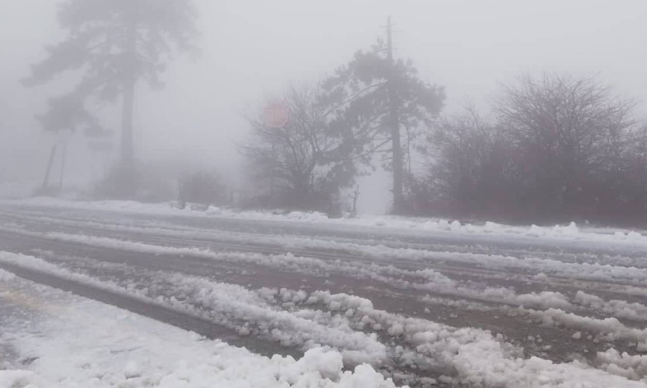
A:
{"type": "Polygon", "coordinates": [[[647,131],[593,78],[524,76],[492,118],[441,120],[410,177],[412,213],[520,222],[646,224],[647,131]]]}

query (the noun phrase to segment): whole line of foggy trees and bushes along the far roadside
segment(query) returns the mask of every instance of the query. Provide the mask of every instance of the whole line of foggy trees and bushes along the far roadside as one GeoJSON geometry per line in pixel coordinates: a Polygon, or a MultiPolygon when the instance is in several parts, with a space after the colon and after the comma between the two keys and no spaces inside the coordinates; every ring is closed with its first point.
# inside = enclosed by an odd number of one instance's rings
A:
{"type": "MultiPolygon", "coordinates": [[[[34,87],[74,70],[74,87],[37,117],[43,130],[83,133],[95,146],[111,146],[105,139],[112,133],[96,112],[122,104],[120,160],[96,195],[161,199],[161,179],[133,146],[135,89],[159,89],[171,54],[195,50],[198,15],[192,0],[100,3],[61,3],[60,26],[69,34],[47,46],[23,83],[34,87]]],[[[501,87],[481,107],[485,117],[474,107],[441,116],[444,88],[395,58],[390,19],[387,27],[386,40],[358,50],[322,81],[270,99],[267,105],[283,107],[285,122],[269,125],[263,107],[248,113],[251,135],[239,144],[249,171],[244,195],[193,171],[179,179],[179,200],[332,211],[344,189],[382,167],[393,173],[393,213],[644,223],[647,131],[633,101],[595,78],[544,74],[501,87]]],[[[372,194],[355,189],[349,202],[372,194]]]]}

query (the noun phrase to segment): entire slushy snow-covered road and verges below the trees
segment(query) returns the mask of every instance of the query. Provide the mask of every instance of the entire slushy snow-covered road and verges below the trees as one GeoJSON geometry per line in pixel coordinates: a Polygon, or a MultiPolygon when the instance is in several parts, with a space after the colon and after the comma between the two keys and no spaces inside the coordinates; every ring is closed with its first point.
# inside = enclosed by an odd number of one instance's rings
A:
{"type": "Polygon", "coordinates": [[[646,256],[575,224],[0,202],[0,387],[646,387],[646,256]]]}

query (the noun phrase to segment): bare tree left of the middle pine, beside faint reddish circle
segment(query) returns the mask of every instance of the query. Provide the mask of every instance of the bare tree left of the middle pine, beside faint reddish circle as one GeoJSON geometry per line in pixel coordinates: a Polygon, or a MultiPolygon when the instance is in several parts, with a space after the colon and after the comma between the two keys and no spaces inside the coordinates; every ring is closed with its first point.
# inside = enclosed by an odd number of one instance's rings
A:
{"type": "Polygon", "coordinates": [[[288,87],[283,102],[289,121],[269,128],[257,114],[249,114],[252,135],[239,146],[254,173],[255,187],[265,188],[274,202],[294,206],[323,206],[339,160],[333,156],[339,140],[329,133],[327,109],[311,85],[288,87]],[[276,191],[269,193],[270,186],[276,191]]]}

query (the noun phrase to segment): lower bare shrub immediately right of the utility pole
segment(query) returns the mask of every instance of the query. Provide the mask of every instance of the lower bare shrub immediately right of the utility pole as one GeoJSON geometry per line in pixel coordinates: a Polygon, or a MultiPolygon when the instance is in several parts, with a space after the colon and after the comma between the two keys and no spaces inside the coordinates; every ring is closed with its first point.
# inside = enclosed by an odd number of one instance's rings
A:
{"type": "Polygon", "coordinates": [[[473,106],[439,120],[418,151],[424,168],[410,177],[414,210],[461,217],[503,211],[498,204],[510,197],[510,142],[473,106]]]}

